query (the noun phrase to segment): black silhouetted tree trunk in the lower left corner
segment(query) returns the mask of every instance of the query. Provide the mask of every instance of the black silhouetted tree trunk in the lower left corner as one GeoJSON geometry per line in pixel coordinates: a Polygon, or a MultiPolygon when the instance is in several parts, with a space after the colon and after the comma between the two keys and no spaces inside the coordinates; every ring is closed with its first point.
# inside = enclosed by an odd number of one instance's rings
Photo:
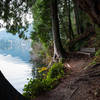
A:
{"type": "Polygon", "coordinates": [[[23,97],[0,71],[0,100],[28,100],[23,97]]]}

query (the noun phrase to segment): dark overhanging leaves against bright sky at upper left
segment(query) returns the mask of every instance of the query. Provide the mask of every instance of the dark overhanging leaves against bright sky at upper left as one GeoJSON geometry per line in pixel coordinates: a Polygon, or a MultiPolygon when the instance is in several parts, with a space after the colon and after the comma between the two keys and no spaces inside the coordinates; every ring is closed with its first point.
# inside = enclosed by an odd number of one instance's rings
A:
{"type": "MultiPolygon", "coordinates": [[[[30,1],[32,2],[32,0],[30,1]]],[[[24,34],[28,28],[28,20],[25,17],[29,12],[28,1],[1,0],[0,1],[0,27],[5,27],[8,32],[18,34],[20,38],[25,38],[24,34]]]]}

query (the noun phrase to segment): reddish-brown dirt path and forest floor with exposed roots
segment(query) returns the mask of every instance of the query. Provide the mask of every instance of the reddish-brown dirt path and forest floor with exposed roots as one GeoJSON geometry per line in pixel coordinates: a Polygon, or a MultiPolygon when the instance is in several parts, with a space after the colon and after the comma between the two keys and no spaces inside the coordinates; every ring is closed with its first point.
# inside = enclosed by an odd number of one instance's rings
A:
{"type": "Polygon", "coordinates": [[[71,58],[65,75],[53,90],[34,100],[100,100],[100,64],[89,66],[92,58],[71,58]]]}

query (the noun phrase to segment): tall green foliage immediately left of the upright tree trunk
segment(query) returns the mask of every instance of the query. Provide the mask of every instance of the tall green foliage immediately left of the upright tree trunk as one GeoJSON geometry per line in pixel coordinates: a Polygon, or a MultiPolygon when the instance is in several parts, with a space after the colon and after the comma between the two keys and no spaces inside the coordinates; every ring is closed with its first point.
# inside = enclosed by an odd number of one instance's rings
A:
{"type": "Polygon", "coordinates": [[[52,39],[49,1],[36,0],[35,4],[32,7],[34,31],[31,34],[31,39],[37,42],[40,41],[46,47],[49,46],[50,41],[52,39]]]}

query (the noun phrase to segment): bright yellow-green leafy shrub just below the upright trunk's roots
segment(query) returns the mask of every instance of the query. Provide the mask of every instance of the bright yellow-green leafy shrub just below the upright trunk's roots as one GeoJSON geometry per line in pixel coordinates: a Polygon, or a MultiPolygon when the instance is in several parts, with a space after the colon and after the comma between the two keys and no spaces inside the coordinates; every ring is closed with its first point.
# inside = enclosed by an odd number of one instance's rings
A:
{"type": "Polygon", "coordinates": [[[47,73],[46,79],[43,80],[47,90],[51,90],[58,83],[59,79],[64,75],[64,69],[62,63],[54,63],[47,73]]]}

